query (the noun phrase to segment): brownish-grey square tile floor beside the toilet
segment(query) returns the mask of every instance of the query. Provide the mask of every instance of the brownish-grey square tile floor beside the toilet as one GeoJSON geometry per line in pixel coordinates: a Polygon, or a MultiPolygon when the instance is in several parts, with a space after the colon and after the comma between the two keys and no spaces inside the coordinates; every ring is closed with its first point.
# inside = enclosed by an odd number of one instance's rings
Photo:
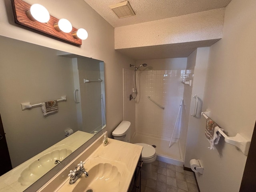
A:
{"type": "Polygon", "coordinates": [[[141,192],[198,192],[194,173],[161,161],[152,163],[152,178],[141,178],[141,192]]]}

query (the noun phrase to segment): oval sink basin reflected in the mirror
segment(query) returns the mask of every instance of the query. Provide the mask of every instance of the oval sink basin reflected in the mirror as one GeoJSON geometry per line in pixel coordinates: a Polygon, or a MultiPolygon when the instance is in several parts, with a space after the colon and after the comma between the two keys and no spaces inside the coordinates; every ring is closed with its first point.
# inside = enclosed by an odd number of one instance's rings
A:
{"type": "Polygon", "coordinates": [[[62,161],[71,153],[72,150],[62,148],[44,154],[21,172],[18,182],[20,182],[23,186],[33,184],[49,170],[54,168],[54,166],[56,166],[56,164],[54,164],[56,160],[62,161]]]}

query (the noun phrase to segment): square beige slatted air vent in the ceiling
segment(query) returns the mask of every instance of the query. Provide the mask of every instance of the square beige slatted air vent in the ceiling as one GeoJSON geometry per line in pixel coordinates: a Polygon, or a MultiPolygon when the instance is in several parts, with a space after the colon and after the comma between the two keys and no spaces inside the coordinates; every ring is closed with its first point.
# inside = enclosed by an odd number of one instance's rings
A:
{"type": "Polygon", "coordinates": [[[128,1],[110,5],[109,7],[114,11],[118,18],[130,17],[135,15],[128,1]]]}

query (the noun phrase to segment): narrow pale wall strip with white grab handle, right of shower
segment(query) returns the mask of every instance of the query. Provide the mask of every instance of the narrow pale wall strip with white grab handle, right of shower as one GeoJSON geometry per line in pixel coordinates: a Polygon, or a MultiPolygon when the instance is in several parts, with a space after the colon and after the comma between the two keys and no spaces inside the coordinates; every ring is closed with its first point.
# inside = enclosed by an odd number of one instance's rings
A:
{"type": "MultiPolygon", "coordinates": [[[[194,150],[198,148],[198,139],[200,134],[204,133],[204,128],[198,126],[203,116],[200,115],[202,111],[202,104],[204,100],[204,87],[206,81],[206,72],[208,66],[208,57],[209,57],[209,47],[197,48],[194,51],[188,60],[188,66],[193,68],[194,77],[193,77],[193,86],[186,89],[186,94],[184,94],[184,100],[186,101],[186,124],[187,127],[187,137],[186,137],[186,154],[185,154],[185,166],[190,167],[190,159],[199,157],[194,153],[194,150]],[[192,117],[191,114],[194,113],[196,99],[194,96],[198,96],[198,108],[195,117],[192,117]]],[[[185,92],[185,90],[184,90],[185,92]]],[[[203,137],[204,139],[204,137],[203,137]]]]}

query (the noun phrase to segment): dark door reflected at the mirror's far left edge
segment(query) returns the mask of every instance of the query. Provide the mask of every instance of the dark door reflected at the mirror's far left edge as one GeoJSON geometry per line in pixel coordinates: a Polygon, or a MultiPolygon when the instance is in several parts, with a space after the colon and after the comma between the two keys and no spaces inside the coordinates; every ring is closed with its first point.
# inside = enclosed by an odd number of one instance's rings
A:
{"type": "Polygon", "coordinates": [[[0,176],[12,169],[11,159],[6,143],[4,127],[0,115],[0,176]]]}

